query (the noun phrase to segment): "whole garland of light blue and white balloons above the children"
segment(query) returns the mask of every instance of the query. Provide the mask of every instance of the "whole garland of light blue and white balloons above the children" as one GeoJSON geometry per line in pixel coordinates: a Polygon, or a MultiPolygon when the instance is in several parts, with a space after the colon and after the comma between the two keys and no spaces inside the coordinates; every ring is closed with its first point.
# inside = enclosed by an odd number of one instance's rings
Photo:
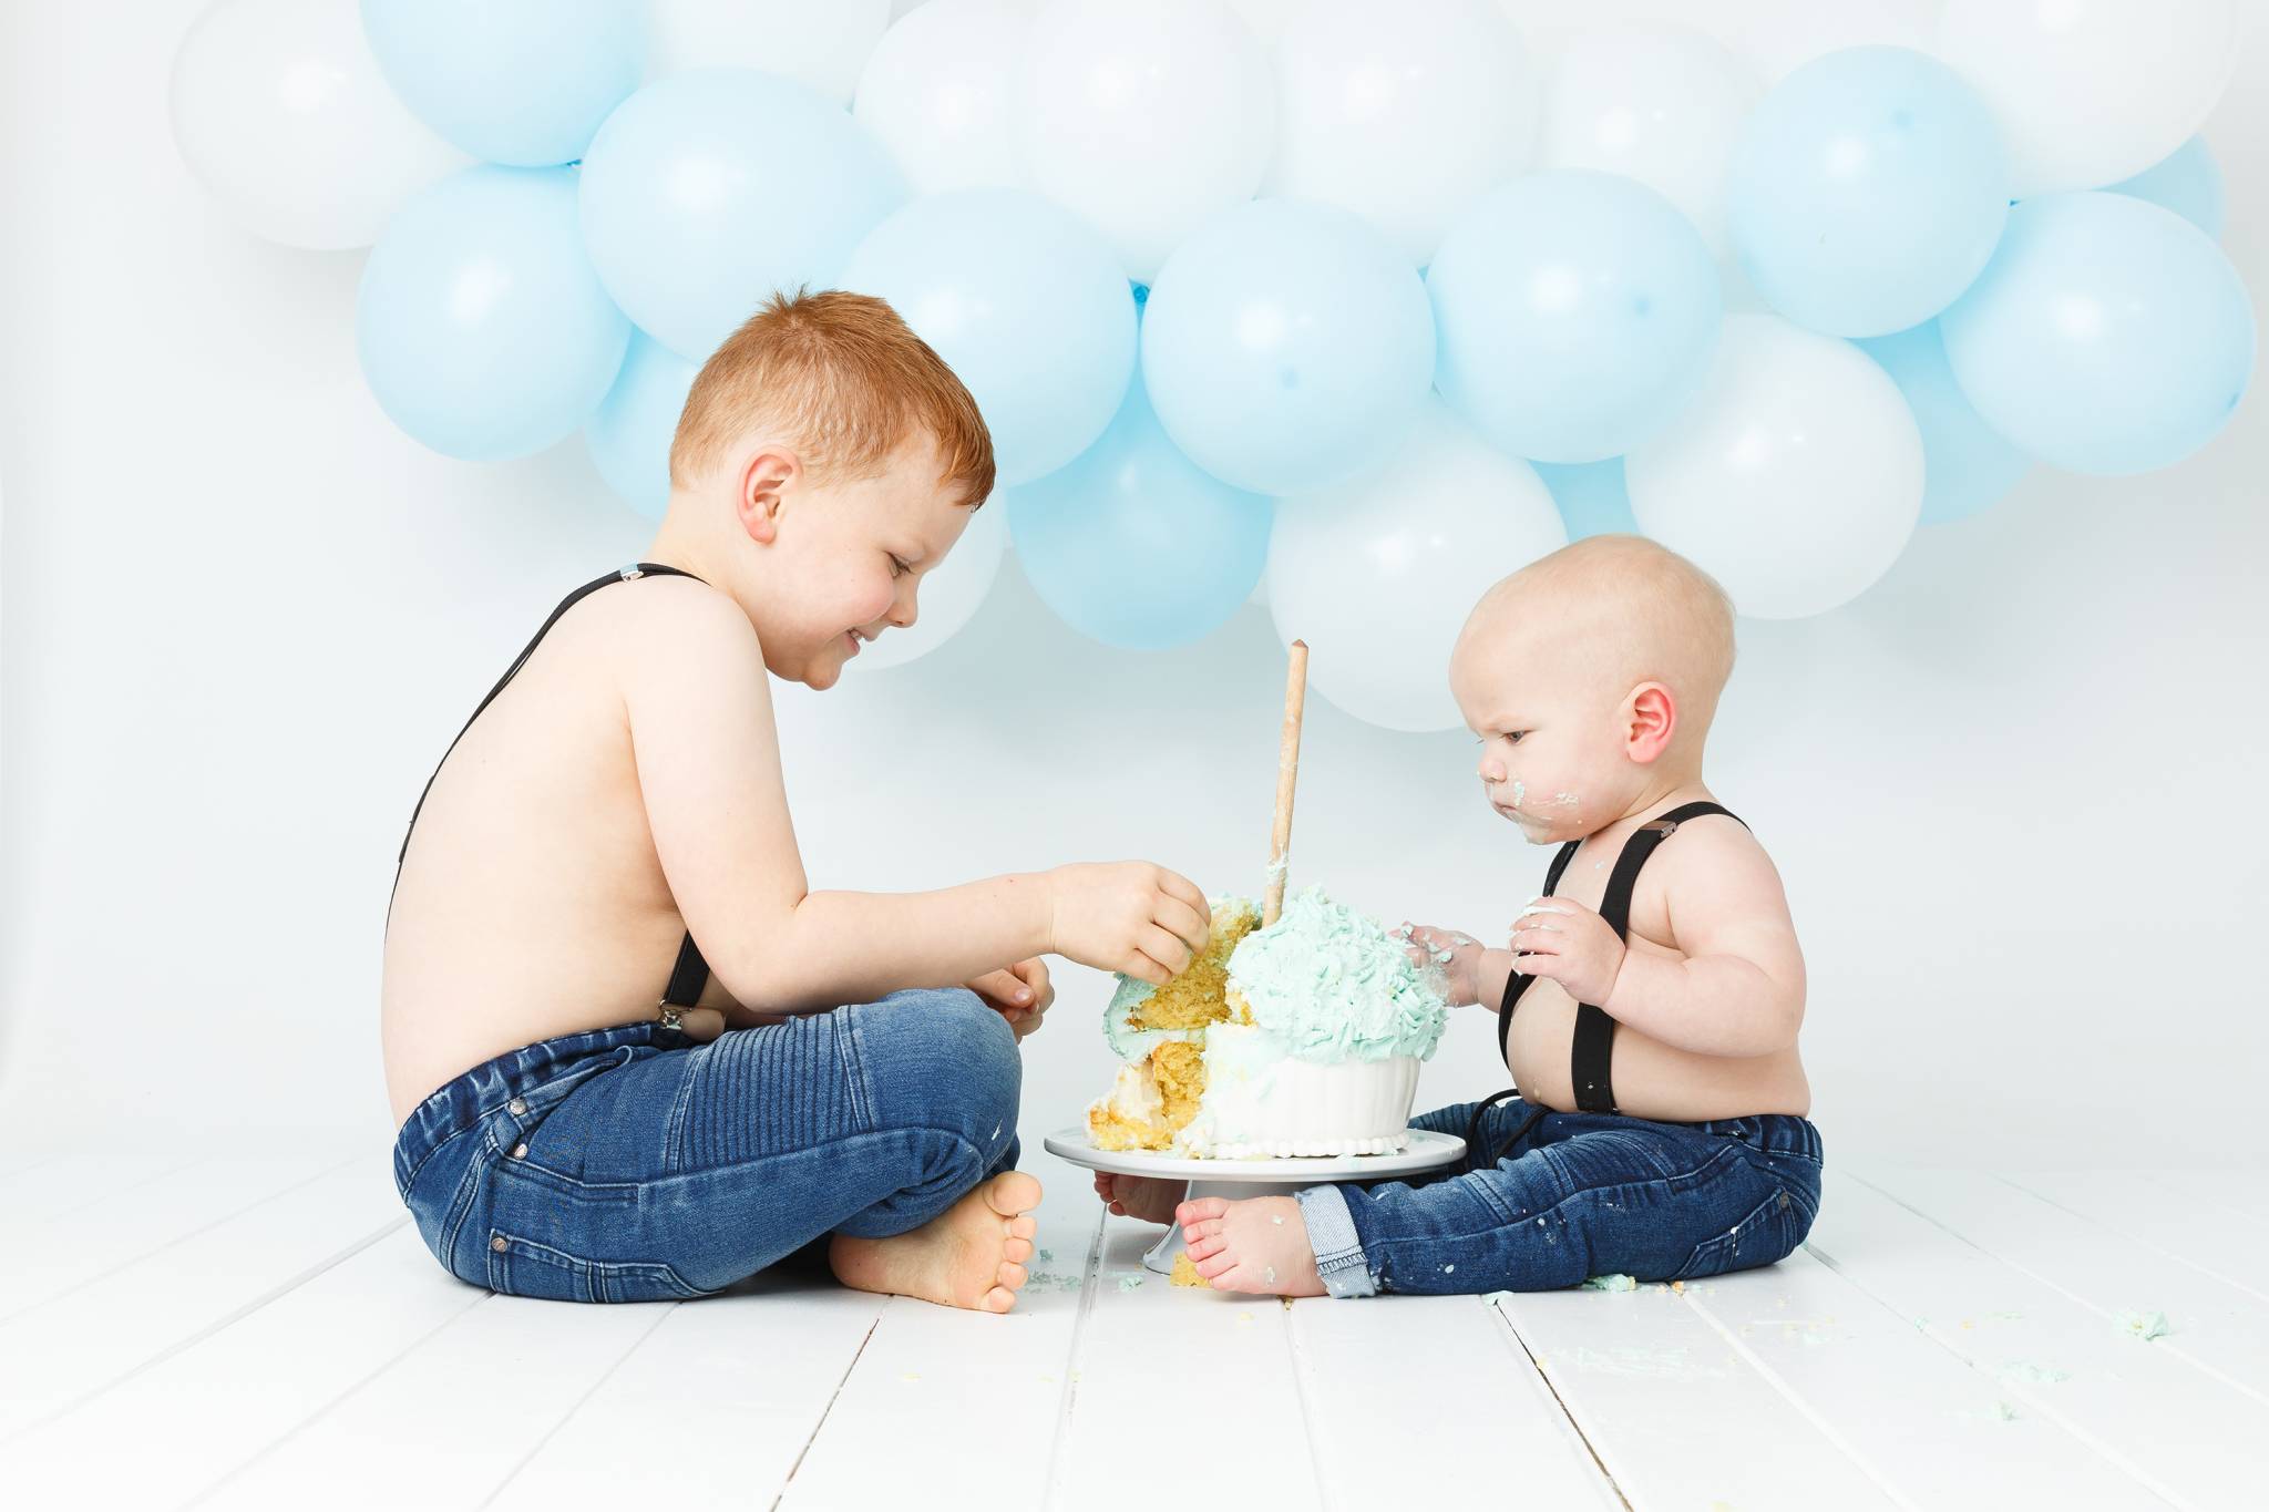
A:
{"type": "MultiPolygon", "coordinates": [[[[771,290],[889,299],[969,383],[1012,540],[1116,646],[1257,594],[1316,687],[1457,723],[1454,610],[1643,530],[1820,614],[2035,462],[2169,467],[2246,390],[2196,138],[2235,0],[1790,5],[1541,59],[1493,0],[216,0],[175,141],[256,236],[370,247],[408,435],[583,435],[642,515],[771,290]],[[2053,14],[2051,14],[2053,11],[2053,14]],[[1756,313],[1758,306],[1770,313],[1756,313]]],[[[887,646],[887,642],[885,642],[887,646]]]]}

